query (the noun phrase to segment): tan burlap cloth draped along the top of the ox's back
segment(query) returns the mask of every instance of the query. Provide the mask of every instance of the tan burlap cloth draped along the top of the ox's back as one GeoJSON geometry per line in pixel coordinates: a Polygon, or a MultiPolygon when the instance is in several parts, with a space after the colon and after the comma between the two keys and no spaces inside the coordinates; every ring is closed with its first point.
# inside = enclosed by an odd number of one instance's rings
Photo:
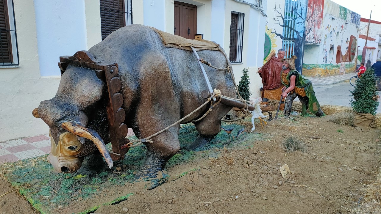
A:
{"type": "Polygon", "coordinates": [[[186,39],[184,37],[180,37],[178,35],[169,34],[167,32],[163,32],[154,27],[151,27],[152,30],[157,32],[160,36],[163,44],[166,47],[170,48],[179,48],[182,50],[192,51],[191,46],[195,48],[195,50],[219,50],[218,44],[212,41],[203,40],[203,39],[186,39]]]}

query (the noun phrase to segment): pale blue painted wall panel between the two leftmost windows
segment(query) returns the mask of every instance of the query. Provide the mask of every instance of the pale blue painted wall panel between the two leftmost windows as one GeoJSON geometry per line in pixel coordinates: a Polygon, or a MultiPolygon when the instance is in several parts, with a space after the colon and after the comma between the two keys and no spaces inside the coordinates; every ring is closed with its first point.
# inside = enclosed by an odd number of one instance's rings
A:
{"type": "Polygon", "coordinates": [[[52,62],[58,62],[59,56],[87,50],[85,2],[35,0],[34,9],[41,76],[58,76],[57,64],[52,62]]]}

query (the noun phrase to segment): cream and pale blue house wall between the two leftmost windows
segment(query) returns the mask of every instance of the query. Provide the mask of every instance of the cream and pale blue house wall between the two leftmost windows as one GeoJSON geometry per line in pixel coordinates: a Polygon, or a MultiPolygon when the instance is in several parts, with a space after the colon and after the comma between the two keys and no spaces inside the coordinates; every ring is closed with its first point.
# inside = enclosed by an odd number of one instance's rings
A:
{"type": "Polygon", "coordinates": [[[56,94],[60,81],[59,56],[73,55],[101,41],[99,0],[69,3],[57,0],[54,1],[57,6],[51,2],[44,5],[41,1],[35,2],[36,5],[33,0],[14,0],[20,65],[12,69],[0,67],[3,101],[0,103],[0,141],[47,134],[48,126],[31,112],[41,101],[56,94]],[[70,4],[77,8],[72,9],[70,4]],[[41,73],[40,67],[44,69],[41,73]]]}

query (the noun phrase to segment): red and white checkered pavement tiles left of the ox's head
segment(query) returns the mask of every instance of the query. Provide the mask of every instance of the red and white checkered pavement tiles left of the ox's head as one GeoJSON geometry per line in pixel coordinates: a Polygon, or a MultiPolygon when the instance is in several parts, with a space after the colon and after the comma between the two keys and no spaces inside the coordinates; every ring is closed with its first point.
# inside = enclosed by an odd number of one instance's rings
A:
{"type": "MultiPolygon", "coordinates": [[[[127,136],[133,134],[132,129],[128,129],[127,136]]],[[[46,155],[50,148],[48,134],[0,142],[0,164],[46,155]]]]}

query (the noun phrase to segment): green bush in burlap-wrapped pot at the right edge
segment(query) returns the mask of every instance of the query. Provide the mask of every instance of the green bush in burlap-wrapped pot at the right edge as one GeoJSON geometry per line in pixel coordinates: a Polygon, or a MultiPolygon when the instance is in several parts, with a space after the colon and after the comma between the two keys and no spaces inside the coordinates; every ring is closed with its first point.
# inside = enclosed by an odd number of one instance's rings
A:
{"type": "Polygon", "coordinates": [[[371,68],[367,69],[357,80],[355,89],[351,93],[355,128],[365,132],[375,128],[375,114],[379,105],[375,71],[371,68]]]}

